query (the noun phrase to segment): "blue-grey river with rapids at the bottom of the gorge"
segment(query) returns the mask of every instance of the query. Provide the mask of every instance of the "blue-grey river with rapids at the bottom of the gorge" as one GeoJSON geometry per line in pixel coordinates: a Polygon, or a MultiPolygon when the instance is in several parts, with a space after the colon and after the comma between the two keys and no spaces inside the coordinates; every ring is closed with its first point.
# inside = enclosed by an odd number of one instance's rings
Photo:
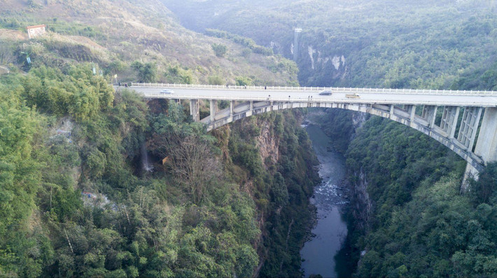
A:
{"type": "Polygon", "coordinates": [[[306,130],[320,162],[319,175],[323,182],[316,186],[311,198],[311,203],[317,208],[316,226],[311,231],[313,237],[305,242],[300,251],[304,277],[313,274],[338,277],[337,271],[342,275],[350,274],[347,270],[339,269],[343,268],[342,265],[338,265],[337,269],[335,261],[342,261],[341,258],[335,258],[335,255],[342,249],[347,234],[346,223],[342,219],[342,207],[349,198],[346,186],[343,185],[345,159],[342,154],[332,150],[332,139],[319,126],[309,124],[306,130]]]}

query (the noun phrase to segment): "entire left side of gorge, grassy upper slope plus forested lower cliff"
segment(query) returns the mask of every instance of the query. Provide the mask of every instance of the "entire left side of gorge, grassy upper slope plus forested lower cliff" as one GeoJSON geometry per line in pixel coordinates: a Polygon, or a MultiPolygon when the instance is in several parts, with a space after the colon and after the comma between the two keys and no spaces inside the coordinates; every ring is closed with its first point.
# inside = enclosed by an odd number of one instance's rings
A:
{"type": "Polygon", "coordinates": [[[151,1],[0,12],[0,276],[300,275],[318,182],[300,112],[207,133],[188,103],[109,85],[295,85],[293,62],[183,29],[151,1]],[[48,34],[27,40],[34,24],[48,34]]]}

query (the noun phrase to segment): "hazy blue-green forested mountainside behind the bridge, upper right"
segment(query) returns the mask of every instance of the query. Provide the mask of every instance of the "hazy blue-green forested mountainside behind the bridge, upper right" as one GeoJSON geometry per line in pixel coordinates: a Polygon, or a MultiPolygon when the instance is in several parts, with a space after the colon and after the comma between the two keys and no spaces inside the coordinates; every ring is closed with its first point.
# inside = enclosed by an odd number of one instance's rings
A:
{"type": "Polygon", "coordinates": [[[306,86],[449,89],[461,73],[495,68],[493,1],[162,2],[187,27],[246,36],[290,59],[302,28],[306,86]]]}

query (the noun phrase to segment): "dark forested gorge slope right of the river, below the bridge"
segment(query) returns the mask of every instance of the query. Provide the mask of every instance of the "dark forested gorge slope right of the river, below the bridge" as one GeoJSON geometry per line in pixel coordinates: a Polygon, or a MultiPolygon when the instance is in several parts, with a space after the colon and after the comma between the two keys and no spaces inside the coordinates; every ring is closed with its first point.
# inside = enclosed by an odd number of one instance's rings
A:
{"type": "Polygon", "coordinates": [[[495,166],[461,194],[465,161],[407,126],[373,117],[346,153],[357,277],[496,275],[495,166]]]}

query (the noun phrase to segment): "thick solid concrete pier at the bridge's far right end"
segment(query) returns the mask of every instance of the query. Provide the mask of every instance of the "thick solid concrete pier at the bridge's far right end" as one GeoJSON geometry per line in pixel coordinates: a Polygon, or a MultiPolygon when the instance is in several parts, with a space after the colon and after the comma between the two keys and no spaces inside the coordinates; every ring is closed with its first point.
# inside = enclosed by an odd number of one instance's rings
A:
{"type": "MultiPolygon", "coordinates": [[[[482,125],[479,127],[475,154],[481,157],[485,164],[497,161],[497,108],[485,108],[482,125]]],[[[470,163],[466,166],[461,191],[468,188],[468,177],[478,180],[478,170],[470,163]]]]}

